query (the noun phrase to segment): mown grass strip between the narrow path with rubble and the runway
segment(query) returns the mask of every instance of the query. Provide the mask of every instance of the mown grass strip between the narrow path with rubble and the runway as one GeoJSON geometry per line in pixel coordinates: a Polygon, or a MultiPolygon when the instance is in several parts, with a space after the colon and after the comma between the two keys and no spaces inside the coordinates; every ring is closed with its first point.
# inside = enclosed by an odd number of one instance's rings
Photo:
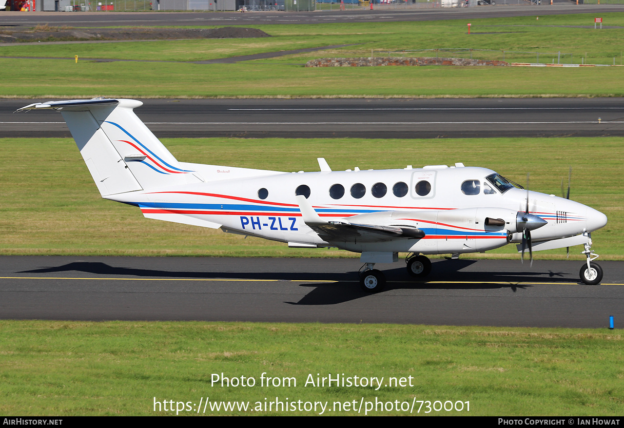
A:
{"type": "Polygon", "coordinates": [[[624,95],[620,67],[322,67],[0,59],[6,97],[540,97],[624,95]],[[54,68],[54,74],[49,72],[54,68]],[[250,72],[253,70],[253,72],[250,72]],[[71,77],[67,77],[71,76],[71,77]],[[289,77],[290,76],[290,77],[289,77]]]}

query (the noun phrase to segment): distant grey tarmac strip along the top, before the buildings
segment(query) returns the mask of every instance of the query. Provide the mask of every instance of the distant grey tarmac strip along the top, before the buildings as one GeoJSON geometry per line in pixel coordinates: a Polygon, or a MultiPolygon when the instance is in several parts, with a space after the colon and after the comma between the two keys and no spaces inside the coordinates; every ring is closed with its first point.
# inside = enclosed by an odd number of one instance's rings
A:
{"type": "MultiPolygon", "coordinates": [[[[439,19],[477,19],[484,17],[532,16],[574,14],[590,12],[622,12],[622,4],[554,5],[517,4],[519,0],[497,1],[497,6],[449,7],[431,9],[395,9],[394,5],[368,9],[314,12],[2,12],[0,26],[32,27],[36,24],[51,26],[207,26],[251,24],[319,24],[331,22],[398,22],[437,21],[439,19]],[[507,4],[505,4],[507,3],[507,4]]],[[[524,3],[524,1],[522,2],[524,3]]],[[[338,5],[336,9],[338,8],[338,5]]],[[[588,23],[588,25],[591,24],[588,23]]],[[[608,24],[608,22],[605,22],[608,24]]]]}

